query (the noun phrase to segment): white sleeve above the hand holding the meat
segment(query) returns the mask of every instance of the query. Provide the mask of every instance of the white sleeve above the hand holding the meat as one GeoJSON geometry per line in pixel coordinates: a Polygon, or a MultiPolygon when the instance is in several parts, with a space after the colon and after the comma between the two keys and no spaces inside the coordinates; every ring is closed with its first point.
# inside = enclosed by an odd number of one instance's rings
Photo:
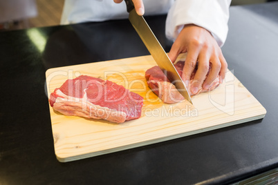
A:
{"type": "Polygon", "coordinates": [[[174,41],[185,24],[194,23],[210,31],[219,46],[228,34],[232,0],[176,0],[166,19],[166,36],[174,41]]]}

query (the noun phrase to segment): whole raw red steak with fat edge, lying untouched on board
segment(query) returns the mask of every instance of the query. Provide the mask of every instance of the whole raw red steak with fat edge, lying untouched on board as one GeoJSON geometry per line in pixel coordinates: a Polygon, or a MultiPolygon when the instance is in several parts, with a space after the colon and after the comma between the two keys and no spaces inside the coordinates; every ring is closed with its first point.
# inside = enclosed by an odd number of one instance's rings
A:
{"type": "Polygon", "coordinates": [[[143,97],[112,81],[81,75],[56,88],[49,102],[64,115],[122,123],[141,116],[143,97]]]}

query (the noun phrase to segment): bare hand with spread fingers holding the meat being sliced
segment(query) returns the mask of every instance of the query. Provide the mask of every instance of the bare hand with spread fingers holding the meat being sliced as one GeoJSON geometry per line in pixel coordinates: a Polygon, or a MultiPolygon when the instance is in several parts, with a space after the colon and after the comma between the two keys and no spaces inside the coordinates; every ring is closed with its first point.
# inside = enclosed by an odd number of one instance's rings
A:
{"type": "Polygon", "coordinates": [[[173,43],[169,52],[169,58],[174,62],[178,55],[184,52],[187,52],[187,57],[181,78],[186,83],[190,81],[198,61],[198,69],[191,88],[192,94],[197,93],[202,84],[203,88],[208,90],[218,75],[220,83],[222,83],[228,64],[223,57],[221,48],[209,31],[194,24],[185,25],[173,43]],[[212,68],[205,79],[210,63],[212,68]]]}

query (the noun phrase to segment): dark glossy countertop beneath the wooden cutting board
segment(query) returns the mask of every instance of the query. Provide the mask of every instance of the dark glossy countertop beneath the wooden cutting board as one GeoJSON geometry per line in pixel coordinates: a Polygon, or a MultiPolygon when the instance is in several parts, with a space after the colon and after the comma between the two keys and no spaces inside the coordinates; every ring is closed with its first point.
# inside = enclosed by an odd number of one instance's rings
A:
{"type": "MultiPolygon", "coordinates": [[[[0,184],[229,184],[278,168],[277,10],[231,7],[223,46],[265,118],[68,163],[54,153],[46,70],[149,52],[127,20],[0,32],[0,184]]],[[[147,21],[169,52],[165,16],[147,21]]]]}

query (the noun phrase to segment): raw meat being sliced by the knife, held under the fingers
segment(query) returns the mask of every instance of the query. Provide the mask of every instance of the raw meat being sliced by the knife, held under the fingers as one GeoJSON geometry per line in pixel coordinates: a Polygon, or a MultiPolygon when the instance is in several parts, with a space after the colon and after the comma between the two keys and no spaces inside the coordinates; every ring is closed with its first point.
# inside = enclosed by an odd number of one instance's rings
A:
{"type": "MultiPolygon", "coordinates": [[[[183,66],[185,65],[185,61],[178,61],[176,64],[174,64],[176,70],[178,71],[178,75],[181,76],[183,72],[183,66]]],[[[211,66],[210,66],[211,68],[211,66]]],[[[194,81],[194,76],[196,73],[196,70],[198,69],[198,64],[196,65],[196,68],[192,72],[192,76],[190,78],[190,81],[184,81],[185,86],[188,90],[188,93],[190,96],[198,95],[199,93],[207,92],[208,90],[204,90],[202,87],[197,91],[197,93],[192,94],[191,93],[191,87],[194,81]]],[[[207,72],[209,74],[210,70],[207,72]]],[[[147,84],[153,92],[158,95],[158,97],[167,104],[174,104],[179,101],[182,101],[184,97],[178,93],[178,90],[176,87],[170,83],[169,79],[165,76],[163,71],[158,67],[154,66],[152,68],[149,68],[145,72],[145,77],[147,79],[147,84]]],[[[216,77],[216,79],[212,82],[210,86],[210,90],[214,90],[219,86],[219,76],[216,77]]]]}

